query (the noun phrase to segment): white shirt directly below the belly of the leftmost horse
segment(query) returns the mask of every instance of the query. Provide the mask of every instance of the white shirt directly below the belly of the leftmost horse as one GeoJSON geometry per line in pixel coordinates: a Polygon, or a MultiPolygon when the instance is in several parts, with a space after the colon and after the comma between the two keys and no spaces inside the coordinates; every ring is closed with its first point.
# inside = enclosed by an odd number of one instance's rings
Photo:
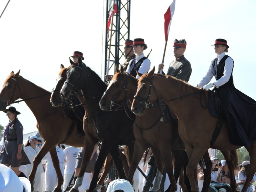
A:
{"type": "Polygon", "coordinates": [[[76,157],[79,153],[79,148],[70,146],[66,147],[63,152],[66,156],[66,166],[64,169],[64,174],[73,174],[75,171],[76,157]]]}

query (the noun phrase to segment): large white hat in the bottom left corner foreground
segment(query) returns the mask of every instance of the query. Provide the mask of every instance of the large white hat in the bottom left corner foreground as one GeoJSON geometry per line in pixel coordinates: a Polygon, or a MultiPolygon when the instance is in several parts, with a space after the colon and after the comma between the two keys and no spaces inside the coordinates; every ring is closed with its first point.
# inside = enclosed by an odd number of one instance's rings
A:
{"type": "Polygon", "coordinates": [[[30,181],[18,177],[9,167],[0,164],[0,192],[31,192],[30,181]]]}

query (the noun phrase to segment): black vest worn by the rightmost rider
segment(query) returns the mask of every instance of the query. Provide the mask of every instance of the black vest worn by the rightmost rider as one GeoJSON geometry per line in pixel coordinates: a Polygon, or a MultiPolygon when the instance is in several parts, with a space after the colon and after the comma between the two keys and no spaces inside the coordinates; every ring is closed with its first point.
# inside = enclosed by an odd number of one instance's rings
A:
{"type": "MultiPolygon", "coordinates": [[[[219,61],[219,65],[217,65],[218,58],[214,59],[214,61],[212,63],[212,72],[213,72],[216,80],[219,80],[223,76],[224,67],[225,67],[225,61],[226,61],[226,59],[228,57],[229,57],[228,55],[223,56],[221,61],[219,61]]],[[[228,82],[226,82],[224,85],[220,86],[220,88],[229,88],[229,87],[234,87],[234,83],[233,83],[233,69],[232,69],[232,72],[231,72],[231,75],[230,75],[230,78],[229,78],[228,82]]]]}

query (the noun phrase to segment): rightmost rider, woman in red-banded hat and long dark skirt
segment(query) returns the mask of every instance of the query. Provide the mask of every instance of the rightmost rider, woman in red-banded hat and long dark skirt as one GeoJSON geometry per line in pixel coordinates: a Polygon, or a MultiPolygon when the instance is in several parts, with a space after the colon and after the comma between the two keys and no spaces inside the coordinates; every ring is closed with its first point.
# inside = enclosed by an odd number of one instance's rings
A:
{"type": "Polygon", "coordinates": [[[231,144],[250,146],[256,140],[256,101],[235,88],[234,61],[225,54],[228,48],[226,40],[215,40],[214,49],[217,57],[211,61],[198,88],[214,87],[214,90],[217,90],[221,99],[221,117],[227,120],[231,144]],[[216,80],[209,83],[213,76],[216,80]]]}

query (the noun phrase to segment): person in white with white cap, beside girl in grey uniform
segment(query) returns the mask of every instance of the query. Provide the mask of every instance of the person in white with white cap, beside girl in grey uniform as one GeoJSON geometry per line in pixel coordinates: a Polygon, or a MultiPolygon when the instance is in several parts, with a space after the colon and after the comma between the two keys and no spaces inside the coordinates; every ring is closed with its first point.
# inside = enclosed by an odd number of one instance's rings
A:
{"type": "MultiPolygon", "coordinates": [[[[33,167],[33,161],[35,156],[40,151],[40,148],[37,147],[37,137],[34,135],[28,136],[28,140],[25,143],[24,151],[26,155],[28,156],[28,159],[30,160],[31,164],[25,165],[27,168],[27,176],[30,175],[30,172],[33,167]]],[[[34,180],[34,192],[42,192],[42,186],[41,186],[41,173],[44,172],[44,169],[42,167],[42,163],[40,163],[37,167],[37,172],[35,173],[35,180],[34,180]]]]}

